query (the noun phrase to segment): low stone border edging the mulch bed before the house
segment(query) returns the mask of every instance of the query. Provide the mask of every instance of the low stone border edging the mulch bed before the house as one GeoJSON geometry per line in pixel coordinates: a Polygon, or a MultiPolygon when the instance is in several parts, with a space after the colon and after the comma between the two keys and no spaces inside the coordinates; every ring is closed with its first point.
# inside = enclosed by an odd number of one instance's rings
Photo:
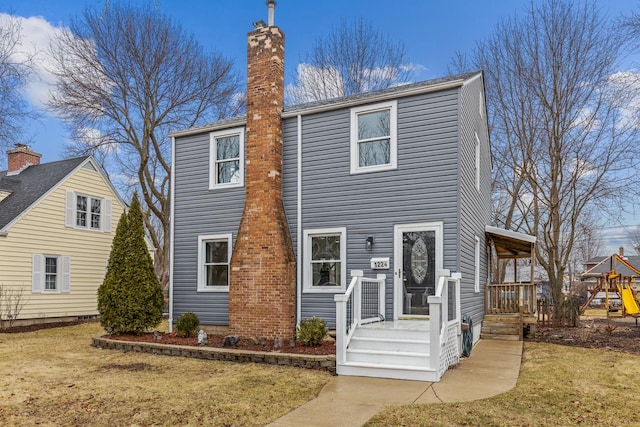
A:
{"type": "Polygon", "coordinates": [[[263,363],[267,365],[293,366],[316,369],[336,374],[335,355],[315,356],[309,354],[278,353],[273,351],[237,350],[217,347],[194,347],[188,345],[159,344],[149,342],[121,341],[103,336],[91,338],[91,345],[100,349],[136,351],[163,356],[182,356],[195,359],[221,360],[238,363],[263,363]]]}

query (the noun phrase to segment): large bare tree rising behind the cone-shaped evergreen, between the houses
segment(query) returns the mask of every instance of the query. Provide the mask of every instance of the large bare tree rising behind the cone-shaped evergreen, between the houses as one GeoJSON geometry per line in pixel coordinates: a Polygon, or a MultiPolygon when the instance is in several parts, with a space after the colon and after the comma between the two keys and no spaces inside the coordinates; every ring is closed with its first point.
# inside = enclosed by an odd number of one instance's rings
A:
{"type": "Polygon", "coordinates": [[[168,284],[167,133],[224,117],[238,81],[231,61],[147,3],[84,11],[52,48],[58,80],[51,106],[74,137],[73,154],[98,153],[139,188],[156,271],[168,284]]]}

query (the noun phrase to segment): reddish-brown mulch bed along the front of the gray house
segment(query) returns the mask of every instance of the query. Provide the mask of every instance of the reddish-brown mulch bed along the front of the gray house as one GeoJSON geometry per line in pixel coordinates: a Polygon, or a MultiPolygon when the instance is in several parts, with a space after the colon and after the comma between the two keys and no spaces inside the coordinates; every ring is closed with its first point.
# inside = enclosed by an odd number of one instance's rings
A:
{"type": "MultiPolygon", "coordinates": [[[[158,344],[175,344],[175,345],[189,345],[198,346],[198,337],[184,338],[172,333],[160,333],[160,339],[154,341],[154,335],[152,333],[142,335],[117,335],[112,336],[111,339],[133,342],[157,342],[158,344]]],[[[108,337],[108,335],[104,335],[108,337]]],[[[258,341],[252,339],[241,338],[239,342],[234,346],[225,347],[224,335],[208,335],[207,347],[215,348],[231,348],[236,350],[250,350],[250,351],[265,351],[265,352],[279,352],[279,353],[293,353],[293,354],[308,354],[308,355],[331,355],[336,354],[336,344],[333,339],[326,339],[322,341],[319,346],[306,346],[300,342],[295,342],[292,349],[289,342],[285,342],[280,348],[275,348],[273,340],[267,340],[264,346],[258,341]]]]}

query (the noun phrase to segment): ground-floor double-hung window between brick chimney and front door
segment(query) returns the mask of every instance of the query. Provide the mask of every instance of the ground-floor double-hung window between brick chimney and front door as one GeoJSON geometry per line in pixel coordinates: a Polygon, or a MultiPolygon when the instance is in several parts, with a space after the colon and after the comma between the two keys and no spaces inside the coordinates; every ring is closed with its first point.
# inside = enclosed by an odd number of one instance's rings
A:
{"type": "Polygon", "coordinates": [[[304,232],[305,292],[344,292],[347,280],[347,230],[304,232]]]}

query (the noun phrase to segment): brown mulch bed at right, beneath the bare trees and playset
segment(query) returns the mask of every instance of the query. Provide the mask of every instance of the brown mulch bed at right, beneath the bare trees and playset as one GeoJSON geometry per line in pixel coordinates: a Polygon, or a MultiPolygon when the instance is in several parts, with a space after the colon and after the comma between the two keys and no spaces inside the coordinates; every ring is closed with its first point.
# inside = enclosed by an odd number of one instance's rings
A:
{"type": "Polygon", "coordinates": [[[583,319],[577,328],[538,328],[526,340],[640,355],[640,325],[632,318],[583,319]]]}

